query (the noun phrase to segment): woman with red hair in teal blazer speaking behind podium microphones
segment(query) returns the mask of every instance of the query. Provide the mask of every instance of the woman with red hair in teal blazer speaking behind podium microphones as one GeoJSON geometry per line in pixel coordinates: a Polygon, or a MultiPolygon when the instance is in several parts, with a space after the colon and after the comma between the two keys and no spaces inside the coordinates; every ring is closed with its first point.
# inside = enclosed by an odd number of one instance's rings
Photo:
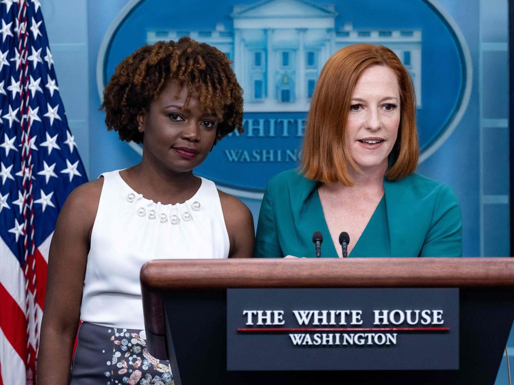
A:
{"type": "Polygon", "coordinates": [[[307,120],[300,170],[272,178],[255,257],[462,256],[461,209],[450,188],[415,174],[419,157],[415,93],[389,48],[357,44],[323,67],[307,120]],[[337,245],[337,247],[335,246],[337,245]]]}

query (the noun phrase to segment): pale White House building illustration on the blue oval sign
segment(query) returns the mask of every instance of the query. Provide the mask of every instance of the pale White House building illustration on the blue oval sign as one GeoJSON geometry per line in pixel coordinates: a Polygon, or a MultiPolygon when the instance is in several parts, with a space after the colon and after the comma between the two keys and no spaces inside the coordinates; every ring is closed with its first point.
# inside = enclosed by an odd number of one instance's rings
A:
{"type": "Polygon", "coordinates": [[[146,42],[190,36],[233,61],[244,90],[245,112],[307,111],[321,68],[338,49],[356,43],[392,49],[409,70],[421,107],[421,30],[336,26],[334,5],[308,0],[265,0],[234,6],[233,29],[148,30],[146,42]]]}

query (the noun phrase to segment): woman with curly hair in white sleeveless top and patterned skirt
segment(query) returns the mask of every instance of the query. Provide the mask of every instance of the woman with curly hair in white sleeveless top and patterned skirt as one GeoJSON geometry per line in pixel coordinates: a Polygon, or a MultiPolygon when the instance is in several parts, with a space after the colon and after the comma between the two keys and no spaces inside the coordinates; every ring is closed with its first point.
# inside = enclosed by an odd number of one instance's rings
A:
{"type": "Polygon", "coordinates": [[[141,163],[106,172],[66,200],[50,245],[38,383],[172,383],[145,347],[139,271],[156,258],[243,258],[253,220],[193,175],[218,140],[242,132],[230,61],[188,37],[126,57],[105,87],[109,130],[142,143],[141,163]],[[79,320],[78,345],[70,374],[79,320]]]}

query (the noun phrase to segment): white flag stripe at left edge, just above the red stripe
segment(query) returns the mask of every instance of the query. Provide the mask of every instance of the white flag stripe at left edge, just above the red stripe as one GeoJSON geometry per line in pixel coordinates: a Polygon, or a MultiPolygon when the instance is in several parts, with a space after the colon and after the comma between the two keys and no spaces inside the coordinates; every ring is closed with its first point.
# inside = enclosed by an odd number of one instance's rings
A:
{"type": "MultiPolygon", "coordinates": [[[[26,313],[25,307],[25,277],[20,262],[12,254],[11,249],[5,244],[0,237],[0,282],[4,285],[9,295],[21,307],[23,313],[26,313]]],[[[2,367],[2,371],[4,368],[2,367]]],[[[5,382],[4,383],[9,383],[5,382]]]]}

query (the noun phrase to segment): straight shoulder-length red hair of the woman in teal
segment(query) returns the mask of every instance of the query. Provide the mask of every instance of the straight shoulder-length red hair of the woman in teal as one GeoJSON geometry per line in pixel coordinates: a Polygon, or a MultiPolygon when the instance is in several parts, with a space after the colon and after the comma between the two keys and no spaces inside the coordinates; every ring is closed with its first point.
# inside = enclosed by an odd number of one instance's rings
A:
{"type": "Polygon", "coordinates": [[[389,48],[355,44],[334,53],[323,66],[313,94],[302,148],[305,177],[325,184],[352,186],[348,166],[360,171],[346,148],[344,130],[352,94],[360,75],[371,66],[391,68],[398,79],[400,125],[390,154],[386,178],[394,181],[412,174],[419,158],[416,95],[409,72],[389,48]]]}

